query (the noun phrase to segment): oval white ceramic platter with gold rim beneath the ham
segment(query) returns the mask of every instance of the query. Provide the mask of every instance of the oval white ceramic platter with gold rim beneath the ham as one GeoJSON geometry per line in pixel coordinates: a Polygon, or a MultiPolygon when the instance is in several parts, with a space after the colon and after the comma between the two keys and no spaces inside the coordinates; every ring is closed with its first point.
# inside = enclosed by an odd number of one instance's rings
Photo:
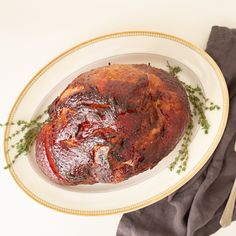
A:
{"type": "MultiPolygon", "coordinates": [[[[111,63],[151,63],[167,69],[167,60],[180,66],[179,78],[199,85],[221,109],[207,112],[209,134],[198,128],[190,144],[187,170],[178,175],[168,169],[179,146],[155,168],[119,184],[63,187],[51,183],[35,163],[34,148],[19,158],[10,172],[16,183],[37,202],[71,214],[106,215],[128,212],[159,201],[189,181],[210,158],[223,134],[228,116],[227,87],[215,62],[201,49],[177,37],[156,32],[122,32],[102,36],[75,46],[46,65],[19,95],[9,122],[30,120],[40,114],[80,73],[111,63]]],[[[7,127],[5,137],[14,132],[7,127]]],[[[15,153],[7,153],[7,163],[15,153]]]]}

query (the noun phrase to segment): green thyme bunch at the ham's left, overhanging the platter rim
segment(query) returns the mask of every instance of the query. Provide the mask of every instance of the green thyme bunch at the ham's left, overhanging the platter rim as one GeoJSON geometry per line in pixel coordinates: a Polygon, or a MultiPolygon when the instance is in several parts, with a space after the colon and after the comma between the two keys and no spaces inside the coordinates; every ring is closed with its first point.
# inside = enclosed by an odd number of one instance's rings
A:
{"type": "Polygon", "coordinates": [[[19,135],[23,135],[17,142],[11,144],[10,148],[7,150],[7,152],[10,152],[11,150],[15,149],[16,155],[13,157],[11,163],[5,166],[4,169],[11,167],[21,155],[26,155],[30,152],[31,147],[33,146],[42,126],[50,121],[50,118],[46,117],[47,114],[48,110],[45,110],[42,114],[31,121],[18,120],[16,122],[0,124],[0,126],[19,126],[19,129],[17,129],[13,134],[9,135],[6,138],[6,141],[13,140],[19,135]]]}

